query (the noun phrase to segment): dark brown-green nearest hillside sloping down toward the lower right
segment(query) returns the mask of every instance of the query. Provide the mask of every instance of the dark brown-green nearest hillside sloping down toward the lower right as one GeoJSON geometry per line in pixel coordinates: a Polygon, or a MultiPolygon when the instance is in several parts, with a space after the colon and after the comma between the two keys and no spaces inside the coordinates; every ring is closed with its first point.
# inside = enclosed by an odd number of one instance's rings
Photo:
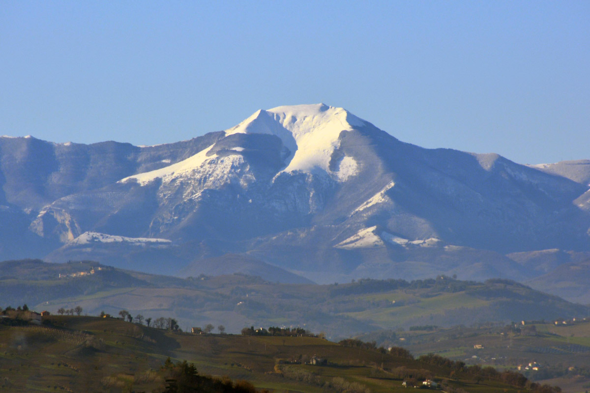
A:
{"type": "Polygon", "coordinates": [[[555,391],[512,372],[413,359],[403,350],[302,336],[195,336],[112,318],[51,316],[41,326],[0,324],[0,348],[0,387],[11,392],[163,392],[167,358],[192,362],[201,375],[247,379],[270,391],[402,392],[402,381],[426,378],[447,392],[555,391]],[[312,358],[327,364],[305,364],[312,358]]]}

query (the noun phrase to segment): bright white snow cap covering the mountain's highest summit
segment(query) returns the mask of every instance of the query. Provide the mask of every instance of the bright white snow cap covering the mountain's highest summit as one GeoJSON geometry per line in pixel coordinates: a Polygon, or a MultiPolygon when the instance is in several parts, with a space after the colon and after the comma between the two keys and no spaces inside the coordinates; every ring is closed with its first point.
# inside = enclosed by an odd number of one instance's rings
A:
{"type": "MultiPolygon", "coordinates": [[[[227,135],[237,133],[267,133],[281,138],[291,154],[287,157],[286,172],[330,173],[332,153],[339,147],[342,131],[365,126],[365,121],[343,108],[324,104],[291,105],[269,110],[258,110],[227,135]]],[[[352,158],[338,177],[348,179],[356,173],[352,158]]]]}

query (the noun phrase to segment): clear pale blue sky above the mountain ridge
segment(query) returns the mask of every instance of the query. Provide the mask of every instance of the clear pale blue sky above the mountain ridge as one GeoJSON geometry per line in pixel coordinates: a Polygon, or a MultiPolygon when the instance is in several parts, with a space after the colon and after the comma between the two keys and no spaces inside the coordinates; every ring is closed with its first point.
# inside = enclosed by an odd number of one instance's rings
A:
{"type": "Polygon", "coordinates": [[[0,135],[158,144],[345,107],[424,147],[590,158],[589,1],[2,1],[0,135]]]}

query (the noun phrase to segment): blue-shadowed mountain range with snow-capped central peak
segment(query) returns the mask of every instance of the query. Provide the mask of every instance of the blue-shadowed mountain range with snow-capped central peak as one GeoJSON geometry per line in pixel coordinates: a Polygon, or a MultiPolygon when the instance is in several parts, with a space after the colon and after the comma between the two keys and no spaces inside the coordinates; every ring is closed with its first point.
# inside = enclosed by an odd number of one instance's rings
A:
{"type": "Polygon", "coordinates": [[[194,273],[231,253],[316,282],[529,279],[504,254],[590,251],[585,164],[429,150],[324,104],[152,147],[0,137],[0,259],[194,273]]]}

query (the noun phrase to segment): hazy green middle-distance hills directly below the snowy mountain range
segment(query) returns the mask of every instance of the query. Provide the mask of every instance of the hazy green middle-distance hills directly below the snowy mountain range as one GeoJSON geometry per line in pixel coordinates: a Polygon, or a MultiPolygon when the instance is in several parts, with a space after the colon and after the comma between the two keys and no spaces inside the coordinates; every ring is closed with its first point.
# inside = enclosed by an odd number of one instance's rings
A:
{"type": "Polygon", "coordinates": [[[244,275],[179,279],[120,270],[93,262],[0,263],[4,307],[27,303],[55,312],[81,306],[84,312],[172,317],[183,330],[212,323],[228,332],[244,326],[303,326],[346,338],[412,325],[467,326],[575,318],[586,306],[566,302],[510,280],[466,282],[447,277],[427,280],[359,280],[347,284],[273,283],[244,275]],[[84,276],[58,278],[76,272],[84,276]],[[100,270],[99,270],[100,268],[100,270]]]}

